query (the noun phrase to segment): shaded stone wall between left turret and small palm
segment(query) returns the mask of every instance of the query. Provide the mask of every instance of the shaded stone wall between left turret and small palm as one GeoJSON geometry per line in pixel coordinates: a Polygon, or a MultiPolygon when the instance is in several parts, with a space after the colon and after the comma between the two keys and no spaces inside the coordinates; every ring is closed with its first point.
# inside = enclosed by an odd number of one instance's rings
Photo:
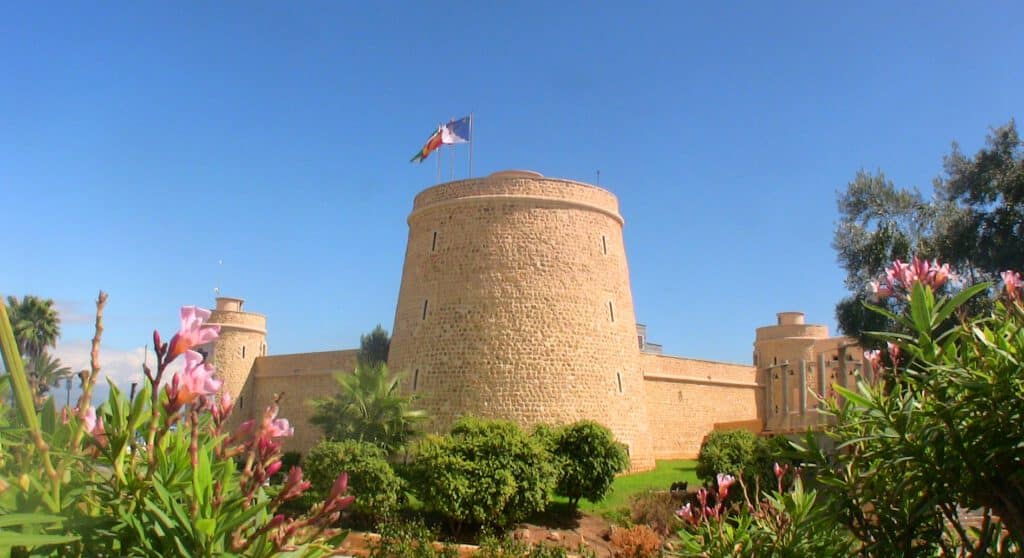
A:
{"type": "Polygon", "coordinates": [[[355,370],[357,349],[303,352],[263,356],[256,359],[253,369],[253,393],[240,410],[250,417],[260,417],[267,406],[280,396],[279,417],[288,419],[295,428],[295,435],[283,438],[286,452],[305,455],[323,438],[323,431],[309,424],[312,406],[309,399],[330,397],[337,393],[336,374],[351,374],[355,370]]]}

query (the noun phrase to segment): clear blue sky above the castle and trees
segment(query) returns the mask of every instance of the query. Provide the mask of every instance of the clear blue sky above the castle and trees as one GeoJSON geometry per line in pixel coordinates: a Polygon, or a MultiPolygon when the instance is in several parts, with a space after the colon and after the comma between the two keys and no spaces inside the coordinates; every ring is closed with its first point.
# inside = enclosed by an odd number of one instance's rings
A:
{"type": "Polygon", "coordinates": [[[776,311],[835,329],[858,169],[927,189],[1024,114],[1019,2],[554,4],[0,6],[0,292],[55,299],[73,360],[108,291],[121,381],[218,284],[271,353],[355,346],[436,182],[409,159],[473,112],[477,175],[600,170],[652,341],[749,362],[776,311]]]}

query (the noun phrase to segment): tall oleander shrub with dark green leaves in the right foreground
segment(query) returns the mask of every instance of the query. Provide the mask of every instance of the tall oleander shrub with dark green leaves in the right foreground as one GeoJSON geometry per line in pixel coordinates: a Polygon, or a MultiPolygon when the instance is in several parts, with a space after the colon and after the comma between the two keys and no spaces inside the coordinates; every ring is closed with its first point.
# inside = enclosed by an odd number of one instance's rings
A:
{"type": "Polygon", "coordinates": [[[944,327],[989,288],[937,299],[914,284],[906,311],[888,314],[909,333],[880,334],[900,348],[896,366],[883,382],[838,388],[844,401],[830,403],[837,424],[827,434],[840,450],[808,440],[805,461],[868,555],[1022,550],[1024,307],[1008,298],[987,315],[944,327]],[[962,510],[977,510],[980,526],[962,510]]]}

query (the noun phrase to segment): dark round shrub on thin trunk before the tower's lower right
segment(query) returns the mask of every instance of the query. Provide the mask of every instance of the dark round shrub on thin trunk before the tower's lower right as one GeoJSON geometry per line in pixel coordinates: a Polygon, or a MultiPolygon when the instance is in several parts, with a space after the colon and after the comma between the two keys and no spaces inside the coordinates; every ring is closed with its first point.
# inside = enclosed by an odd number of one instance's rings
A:
{"type": "Polygon", "coordinates": [[[560,468],[555,493],[575,506],[581,498],[600,502],[611,489],[615,475],[625,471],[629,456],[611,431],[593,421],[579,421],[554,436],[557,466],[560,468]]]}

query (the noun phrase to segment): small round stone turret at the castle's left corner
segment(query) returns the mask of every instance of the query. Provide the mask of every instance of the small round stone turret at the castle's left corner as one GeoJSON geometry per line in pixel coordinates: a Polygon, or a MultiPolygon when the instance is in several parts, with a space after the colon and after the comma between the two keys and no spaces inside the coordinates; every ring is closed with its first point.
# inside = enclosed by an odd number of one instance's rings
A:
{"type": "Polygon", "coordinates": [[[217,368],[216,377],[224,382],[221,390],[234,398],[233,419],[251,418],[255,403],[253,362],[266,354],[266,316],[242,311],[243,304],[241,298],[217,297],[208,323],[220,326],[220,335],[210,347],[204,347],[217,368]]]}

